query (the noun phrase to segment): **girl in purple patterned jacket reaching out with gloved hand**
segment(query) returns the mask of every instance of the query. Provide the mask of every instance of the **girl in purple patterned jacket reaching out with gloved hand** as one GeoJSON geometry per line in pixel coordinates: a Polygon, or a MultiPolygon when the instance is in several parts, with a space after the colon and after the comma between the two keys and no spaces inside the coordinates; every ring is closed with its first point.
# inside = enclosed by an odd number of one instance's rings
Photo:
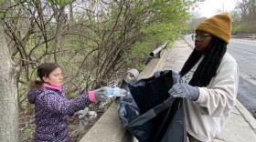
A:
{"type": "Polygon", "coordinates": [[[69,100],[62,79],[59,65],[44,63],[37,68],[37,80],[30,84],[27,99],[35,104],[36,141],[70,142],[67,115],[107,98],[107,87],[101,87],[69,100]]]}

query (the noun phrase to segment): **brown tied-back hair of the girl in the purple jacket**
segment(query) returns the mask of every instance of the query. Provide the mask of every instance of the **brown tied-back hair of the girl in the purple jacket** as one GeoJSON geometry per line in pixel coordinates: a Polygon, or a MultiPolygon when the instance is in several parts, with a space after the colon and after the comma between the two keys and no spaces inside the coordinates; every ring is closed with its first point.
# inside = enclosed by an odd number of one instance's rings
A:
{"type": "Polygon", "coordinates": [[[37,67],[37,79],[33,80],[29,83],[30,87],[35,87],[37,89],[41,89],[43,84],[44,84],[44,80],[43,80],[43,76],[48,77],[49,74],[55,70],[56,68],[59,68],[60,66],[56,63],[43,63],[40,66],[37,67]]]}

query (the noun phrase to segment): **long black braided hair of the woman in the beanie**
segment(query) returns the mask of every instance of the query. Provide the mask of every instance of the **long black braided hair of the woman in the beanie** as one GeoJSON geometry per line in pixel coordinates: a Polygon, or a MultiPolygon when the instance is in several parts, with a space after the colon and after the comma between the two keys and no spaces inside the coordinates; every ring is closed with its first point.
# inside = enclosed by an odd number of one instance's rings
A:
{"type": "MultiPolygon", "coordinates": [[[[218,37],[212,36],[208,50],[201,63],[197,66],[197,70],[188,84],[191,86],[208,86],[211,78],[217,75],[220,61],[226,51],[227,44],[218,37]]],[[[202,52],[194,49],[185,65],[182,67],[180,75],[185,76],[187,72],[197,64],[197,61],[201,56],[202,52]]]]}

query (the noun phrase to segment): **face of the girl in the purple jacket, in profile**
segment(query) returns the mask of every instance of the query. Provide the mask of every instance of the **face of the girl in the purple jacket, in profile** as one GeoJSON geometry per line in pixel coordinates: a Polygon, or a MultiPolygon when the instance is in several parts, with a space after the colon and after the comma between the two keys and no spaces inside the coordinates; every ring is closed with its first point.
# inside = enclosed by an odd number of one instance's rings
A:
{"type": "Polygon", "coordinates": [[[58,67],[54,69],[48,77],[43,76],[43,80],[45,83],[48,83],[51,86],[61,86],[62,85],[62,75],[61,69],[58,67]]]}

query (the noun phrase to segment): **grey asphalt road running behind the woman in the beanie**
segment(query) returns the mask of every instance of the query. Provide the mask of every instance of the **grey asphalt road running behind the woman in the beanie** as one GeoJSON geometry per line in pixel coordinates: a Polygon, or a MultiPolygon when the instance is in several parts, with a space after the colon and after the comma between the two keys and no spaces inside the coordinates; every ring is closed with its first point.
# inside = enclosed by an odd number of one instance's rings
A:
{"type": "MultiPolygon", "coordinates": [[[[191,35],[185,36],[184,40],[194,48],[191,35]]],[[[227,52],[236,59],[240,69],[237,98],[256,118],[256,40],[231,39],[227,52]]]]}

